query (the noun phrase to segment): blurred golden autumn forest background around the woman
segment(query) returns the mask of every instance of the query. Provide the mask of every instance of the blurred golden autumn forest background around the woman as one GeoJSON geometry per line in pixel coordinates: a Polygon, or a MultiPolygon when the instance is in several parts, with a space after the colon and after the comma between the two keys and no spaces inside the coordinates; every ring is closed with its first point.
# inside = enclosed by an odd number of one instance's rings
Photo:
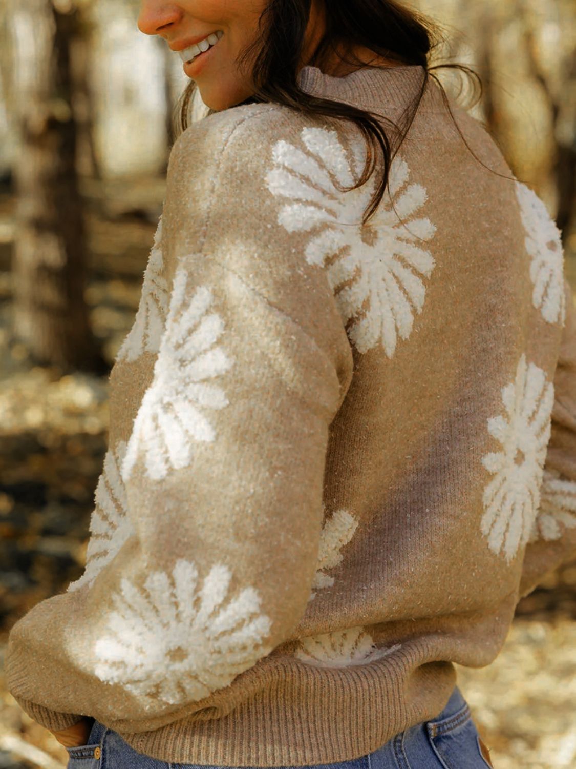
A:
{"type": "MultiPolygon", "coordinates": [[[[435,63],[482,77],[471,113],[563,232],[576,289],[574,0],[420,0],[435,63]]],[[[12,624],[84,567],[108,439],[108,372],[164,200],[180,58],[137,0],[0,0],[0,769],[64,767],[5,691],[12,624]]],[[[437,71],[454,94],[465,81],[437,71]]],[[[460,97],[465,104],[466,89],[460,97]]],[[[576,562],[518,604],[458,683],[497,769],[576,767],[576,562]]]]}

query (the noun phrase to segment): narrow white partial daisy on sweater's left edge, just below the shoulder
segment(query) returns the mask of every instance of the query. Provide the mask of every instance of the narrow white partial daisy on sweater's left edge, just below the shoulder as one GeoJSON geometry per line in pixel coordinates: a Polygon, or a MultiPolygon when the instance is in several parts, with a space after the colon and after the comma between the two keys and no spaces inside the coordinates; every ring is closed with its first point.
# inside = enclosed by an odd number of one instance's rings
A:
{"type": "Polygon", "coordinates": [[[154,245],[148,258],[138,311],[131,331],[116,354],[117,361],[133,363],[144,352],[156,354],[164,332],[168,287],[162,275],[162,217],[158,220],[154,245]]]}

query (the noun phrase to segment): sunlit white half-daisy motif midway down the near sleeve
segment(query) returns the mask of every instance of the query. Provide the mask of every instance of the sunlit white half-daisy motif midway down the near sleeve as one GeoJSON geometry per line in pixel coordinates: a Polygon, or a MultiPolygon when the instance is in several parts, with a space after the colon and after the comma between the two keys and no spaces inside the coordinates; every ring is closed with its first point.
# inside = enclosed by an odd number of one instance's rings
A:
{"type": "Polygon", "coordinates": [[[187,467],[193,441],[215,438],[205,412],[229,402],[224,391],[210,381],[233,364],[217,345],[223,320],[217,312],[210,312],[214,298],[207,286],[197,287],[192,298],[188,293],[186,270],[178,268],[154,380],[134,419],[122,464],[124,483],[141,452],[146,472],[155,481],[165,478],[170,468],[187,467]]]}

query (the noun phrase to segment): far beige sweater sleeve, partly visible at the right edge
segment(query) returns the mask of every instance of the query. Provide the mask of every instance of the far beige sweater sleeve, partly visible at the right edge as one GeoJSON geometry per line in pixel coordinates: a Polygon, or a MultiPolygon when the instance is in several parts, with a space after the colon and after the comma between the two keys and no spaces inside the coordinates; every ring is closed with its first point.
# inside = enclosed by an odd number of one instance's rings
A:
{"type": "Polygon", "coordinates": [[[525,550],[519,595],[576,559],[576,308],[564,278],[566,318],[554,372],[554,406],[540,505],[525,550]]]}

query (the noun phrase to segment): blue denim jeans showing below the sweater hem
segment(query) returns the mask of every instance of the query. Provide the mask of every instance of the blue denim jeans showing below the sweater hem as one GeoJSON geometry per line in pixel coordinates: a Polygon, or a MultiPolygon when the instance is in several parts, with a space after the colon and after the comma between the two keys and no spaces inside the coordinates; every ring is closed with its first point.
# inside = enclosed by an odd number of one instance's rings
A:
{"type": "MultiPolygon", "coordinates": [[[[92,725],[88,744],[66,750],[68,769],[198,769],[200,766],[167,764],[138,753],[99,721],[92,725]]],[[[399,732],[365,756],[313,766],[316,769],[486,769],[492,766],[489,760],[470,708],[455,687],[442,713],[432,721],[423,721],[399,732]]]]}

